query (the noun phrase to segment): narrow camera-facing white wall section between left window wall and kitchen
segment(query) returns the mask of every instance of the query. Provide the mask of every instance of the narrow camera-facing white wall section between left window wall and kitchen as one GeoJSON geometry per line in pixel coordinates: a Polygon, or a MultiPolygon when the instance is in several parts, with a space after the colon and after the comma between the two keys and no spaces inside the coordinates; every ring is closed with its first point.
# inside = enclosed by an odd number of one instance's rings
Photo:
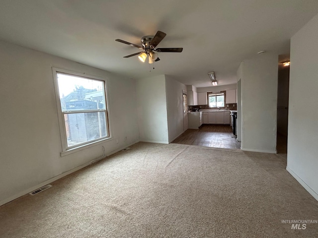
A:
{"type": "Polygon", "coordinates": [[[138,79],[136,91],[140,140],[168,143],[164,75],[138,79]]]}

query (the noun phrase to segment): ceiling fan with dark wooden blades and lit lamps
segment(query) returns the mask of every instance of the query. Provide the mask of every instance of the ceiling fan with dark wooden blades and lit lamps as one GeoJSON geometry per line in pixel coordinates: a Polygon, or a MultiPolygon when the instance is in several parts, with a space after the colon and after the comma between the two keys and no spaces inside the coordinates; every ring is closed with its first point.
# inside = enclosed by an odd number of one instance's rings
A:
{"type": "Polygon", "coordinates": [[[160,59],[158,58],[158,54],[156,52],[182,52],[183,48],[157,48],[155,49],[158,44],[162,41],[162,39],[166,36],[166,34],[162,31],[158,31],[155,36],[144,36],[140,39],[141,45],[138,46],[133,43],[123,41],[120,39],[116,39],[115,41],[139,48],[140,50],[143,50],[141,52],[129,55],[129,56],[124,56],[124,58],[129,58],[132,56],[138,56],[139,55],[139,60],[142,62],[145,62],[145,60],[149,59],[149,63],[153,63],[154,61],[159,61],[160,59]]]}

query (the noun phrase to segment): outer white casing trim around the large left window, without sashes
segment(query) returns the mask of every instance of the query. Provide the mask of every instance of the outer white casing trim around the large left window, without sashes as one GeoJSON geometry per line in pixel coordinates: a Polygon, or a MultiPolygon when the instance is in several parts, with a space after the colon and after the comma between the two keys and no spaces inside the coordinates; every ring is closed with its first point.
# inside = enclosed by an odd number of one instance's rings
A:
{"type": "Polygon", "coordinates": [[[88,75],[85,73],[78,73],[78,72],[74,72],[71,70],[56,68],[56,67],[52,67],[52,72],[53,72],[53,79],[54,79],[55,97],[56,97],[57,113],[58,113],[58,118],[59,118],[59,127],[60,127],[61,143],[62,143],[62,152],[60,153],[61,157],[78,152],[78,151],[81,151],[83,149],[86,149],[86,148],[89,148],[92,146],[96,146],[98,144],[104,143],[105,141],[113,140],[112,133],[111,133],[110,117],[109,117],[107,80],[105,78],[101,78],[98,76],[88,75]],[[104,81],[104,86],[105,86],[105,91],[106,91],[106,95],[105,95],[106,113],[107,113],[106,117],[107,117],[107,121],[108,121],[109,137],[102,138],[102,139],[99,139],[96,141],[92,141],[92,142],[84,144],[84,145],[79,145],[78,147],[68,148],[67,138],[66,138],[65,121],[63,119],[63,113],[62,113],[61,102],[60,102],[60,92],[59,92],[59,85],[58,85],[58,78],[57,78],[58,72],[104,81]]]}

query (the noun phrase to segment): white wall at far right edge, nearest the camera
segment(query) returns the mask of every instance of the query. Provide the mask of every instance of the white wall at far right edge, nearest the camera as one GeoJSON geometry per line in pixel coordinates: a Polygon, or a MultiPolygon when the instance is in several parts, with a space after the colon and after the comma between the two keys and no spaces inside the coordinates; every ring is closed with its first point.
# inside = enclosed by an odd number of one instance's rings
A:
{"type": "Polygon", "coordinates": [[[318,15],[291,38],[287,170],[318,200],[318,15]]]}

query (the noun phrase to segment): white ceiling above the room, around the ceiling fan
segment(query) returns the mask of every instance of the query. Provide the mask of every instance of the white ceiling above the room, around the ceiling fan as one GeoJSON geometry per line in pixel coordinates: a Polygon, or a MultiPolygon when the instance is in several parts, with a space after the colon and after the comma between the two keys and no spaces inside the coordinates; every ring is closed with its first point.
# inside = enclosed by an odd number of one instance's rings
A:
{"type": "Polygon", "coordinates": [[[196,87],[236,83],[240,61],[259,51],[288,57],[290,38],[318,13],[318,0],[1,0],[0,39],[130,78],[167,74],[196,87]],[[155,69],[140,38],[167,34],[155,69]],[[151,72],[150,72],[151,69],[151,72]]]}

